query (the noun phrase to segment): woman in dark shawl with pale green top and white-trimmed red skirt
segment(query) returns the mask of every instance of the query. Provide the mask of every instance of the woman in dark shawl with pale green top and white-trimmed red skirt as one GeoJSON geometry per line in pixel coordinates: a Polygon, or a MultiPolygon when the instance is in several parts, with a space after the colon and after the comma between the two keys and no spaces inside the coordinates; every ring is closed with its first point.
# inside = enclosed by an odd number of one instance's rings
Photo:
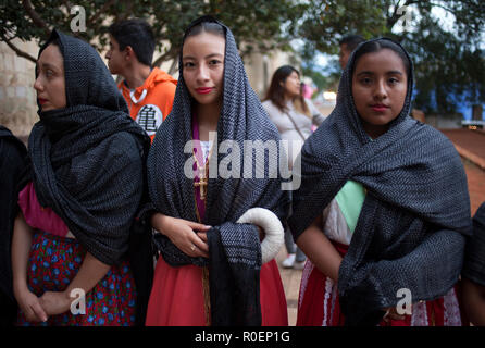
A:
{"type": "Polygon", "coordinates": [[[467,177],[452,144],[409,116],[412,87],[399,44],[361,44],[303,146],[289,219],[310,259],[297,325],[462,324],[467,177]]]}

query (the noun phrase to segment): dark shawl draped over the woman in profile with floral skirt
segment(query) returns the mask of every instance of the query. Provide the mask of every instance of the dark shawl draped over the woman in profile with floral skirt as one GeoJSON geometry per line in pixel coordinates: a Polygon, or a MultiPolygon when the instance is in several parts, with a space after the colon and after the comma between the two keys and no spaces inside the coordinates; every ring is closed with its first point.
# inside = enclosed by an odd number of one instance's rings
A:
{"type": "Polygon", "coordinates": [[[32,130],[35,190],[87,251],[114,264],[128,248],[149,140],[129,117],[98,52],[58,30],[40,52],[55,38],[64,58],[67,105],[39,111],[32,130]]]}

